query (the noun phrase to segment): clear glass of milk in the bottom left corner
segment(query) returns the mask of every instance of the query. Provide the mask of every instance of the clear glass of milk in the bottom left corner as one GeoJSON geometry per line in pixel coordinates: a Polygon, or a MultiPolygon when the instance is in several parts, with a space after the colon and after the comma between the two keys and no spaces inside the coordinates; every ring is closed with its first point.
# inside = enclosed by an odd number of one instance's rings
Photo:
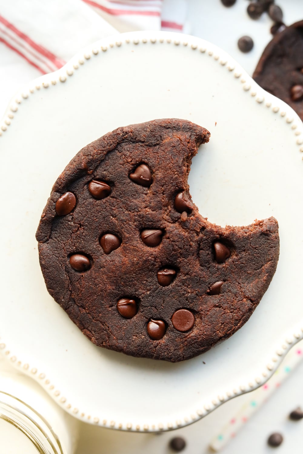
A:
{"type": "Polygon", "coordinates": [[[1,453],[74,454],[78,424],[38,383],[0,357],[1,453]]]}

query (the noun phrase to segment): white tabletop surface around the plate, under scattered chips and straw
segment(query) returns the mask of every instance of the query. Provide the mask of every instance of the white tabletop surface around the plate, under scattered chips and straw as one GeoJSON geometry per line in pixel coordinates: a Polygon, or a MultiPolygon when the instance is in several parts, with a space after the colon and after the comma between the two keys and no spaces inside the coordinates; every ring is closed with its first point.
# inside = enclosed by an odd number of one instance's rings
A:
{"type": "MultiPolygon", "coordinates": [[[[279,0],[285,13],[285,22],[290,24],[303,19],[301,0],[279,0]]],[[[189,0],[189,22],[191,34],[212,41],[226,50],[233,58],[252,74],[263,47],[270,39],[269,28],[272,22],[264,15],[261,20],[247,18],[247,0],[238,0],[232,8],[224,8],[220,0],[189,0]],[[253,51],[241,54],[237,49],[237,39],[241,35],[251,35],[255,42],[253,51]]],[[[20,66],[12,67],[10,51],[0,45],[0,112],[2,113],[11,96],[20,87],[37,77],[35,69],[20,66]]],[[[265,454],[272,452],[266,445],[268,434],[273,431],[283,433],[285,439],[277,452],[286,454],[297,452],[302,444],[303,421],[292,423],[287,419],[289,411],[298,405],[303,406],[302,390],[303,363],[289,377],[266,405],[247,422],[224,453],[265,454]]],[[[224,380],[224,377],[222,377],[224,380]]],[[[102,429],[89,424],[80,424],[80,441],[76,454],[168,454],[169,439],[175,435],[187,440],[184,454],[209,453],[209,442],[246,401],[247,395],[231,400],[212,414],[191,426],[174,433],[161,435],[130,434],[102,429]]],[[[156,405],[155,401],[155,405],[156,405]]],[[[165,406],[165,402],[161,402],[165,406]]]]}

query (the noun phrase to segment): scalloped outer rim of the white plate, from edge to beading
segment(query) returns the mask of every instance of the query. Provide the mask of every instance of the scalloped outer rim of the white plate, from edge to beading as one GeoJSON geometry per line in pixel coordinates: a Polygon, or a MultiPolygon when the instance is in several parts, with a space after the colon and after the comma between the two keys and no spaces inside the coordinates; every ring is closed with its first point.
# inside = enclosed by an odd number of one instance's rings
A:
{"type": "MultiPolygon", "coordinates": [[[[13,115],[11,112],[15,112],[16,108],[18,109],[18,105],[24,102],[24,99],[27,99],[31,93],[34,93],[37,89],[47,89],[50,84],[60,84],[64,83],[65,80],[72,76],[78,68],[75,68],[75,65],[79,67],[81,65],[79,60],[90,59],[92,56],[97,55],[99,52],[106,52],[107,50],[110,51],[110,47],[114,47],[115,45],[120,47],[122,44],[126,44],[127,40],[133,39],[133,44],[142,44],[140,40],[145,43],[146,40],[150,40],[152,43],[156,43],[159,39],[163,40],[170,40],[172,45],[190,45],[193,50],[197,52],[208,52],[210,56],[214,56],[214,59],[218,60],[218,64],[222,66],[226,66],[228,71],[233,74],[238,73],[235,75],[237,79],[241,78],[241,82],[243,84],[243,89],[246,92],[251,92],[251,96],[255,99],[258,103],[265,103],[268,108],[272,108],[274,113],[278,113],[278,111],[282,110],[283,115],[281,116],[288,116],[289,125],[293,123],[294,119],[298,122],[294,129],[294,134],[296,136],[303,133],[303,123],[298,117],[298,115],[294,112],[294,110],[288,106],[288,104],[284,103],[282,100],[276,98],[275,96],[268,94],[265,90],[258,86],[258,84],[246,73],[246,71],[232,58],[230,57],[224,50],[220,49],[218,46],[215,46],[208,41],[197,38],[191,35],[182,35],[179,33],[174,32],[162,32],[162,31],[139,31],[139,32],[128,32],[122,33],[118,35],[112,35],[110,37],[106,37],[96,41],[93,44],[86,46],[84,49],[80,50],[75,56],[73,56],[62,68],[56,70],[53,73],[42,75],[33,81],[25,84],[20,90],[18,90],[15,96],[12,97],[10,103],[8,104],[7,109],[5,110],[4,117],[0,123],[0,135],[2,135],[8,126],[11,124],[11,120],[13,119],[13,115]],[[124,43],[122,42],[124,40],[124,43]],[[112,43],[114,41],[114,44],[112,43]],[[138,41],[138,42],[136,42],[138,41]],[[112,45],[111,45],[112,44],[112,45]],[[109,49],[108,47],[109,46],[109,49]],[[203,46],[202,48],[199,46],[203,46]],[[101,49],[101,50],[99,50],[101,49]],[[204,49],[204,50],[201,50],[204,49]],[[259,95],[259,96],[258,96],[259,95]],[[274,107],[272,105],[274,104],[274,107]]],[[[160,41],[161,42],[161,41],[160,41]]],[[[252,101],[253,101],[252,99],[252,101]]],[[[281,114],[281,112],[280,112],[281,114]]],[[[0,139],[1,140],[1,139],[0,139]]],[[[303,145],[303,139],[297,139],[297,145],[303,145]]],[[[300,151],[303,151],[303,147],[301,146],[300,151]]],[[[107,420],[103,419],[100,416],[90,417],[84,419],[81,416],[80,410],[76,407],[72,408],[72,406],[66,402],[68,402],[67,398],[62,398],[60,393],[55,390],[55,385],[51,384],[51,380],[40,372],[38,368],[34,367],[34,365],[29,365],[25,361],[21,361],[17,356],[10,352],[9,346],[5,343],[5,340],[0,338],[0,351],[3,353],[4,357],[7,360],[10,360],[10,363],[15,366],[17,370],[22,370],[27,375],[30,375],[34,378],[47,392],[48,394],[56,400],[56,402],[64,408],[67,412],[71,415],[75,416],[80,420],[85,420],[85,422],[100,425],[103,427],[111,428],[111,429],[120,429],[120,430],[128,430],[128,431],[135,431],[135,432],[158,432],[159,430],[172,430],[177,429],[180,427],[184,427],[186,425],[194,423],[196,420],[203,418],[205,415],[209,414],[211,411],[215,410],[219,405],[222,405],[224,402],[233,399],[238,395],[245,394],[250,392],[259,386],[262,386],[280,365],[281,361],[283,360],[284,356],[288,353],[288,351],[299,341],[303,339],[303,319],[296,323],[293,328],[285,331],[283,336],[280,336],[279,340],[276,342],[276,345],[280,347],[272,354],[268,355],[269,357],[275,356],[275,360],[268,361],[268,364],[264,366],[263,372],[260,371],[257,376],[262,377],[263,379],[259,379],[256,381],[252,379],[246,386],[238,386],[238,389],[234,389],[233,393],[229,392],[226,393],[227,396],[212,396],[209,398],[209,402],[201,403],[201,410],[197,410],[195,415],[191,415],[189,417],[185,417],[184,421],[180,421],[172,424],[167,422],[166,424],[158,424],[156,426],[152,425],[152,427],[147,426],[146,424],[141,424],[141,426],[134,427],[133,424],[124,422],[120,424],[116,424],[113,421],[108,422],[107,420]],[[43,380],[43,381],[42,381],[43,380]],[[46,381],[46,383],[45,383],[46,381]],[[55,391],[54,391],[55,390],[55,391]],[[229,394],[229,395],[228,395],[229,394]],[[203,408],[202,408],[203,407],[203,408]],[[77,411],[75,411],[77,410],[77,411]],[[187,421],[186,421],[187,419],[187,421]]],[[[255,375],[255,376],[256,376],[255,375]]],[[[84,415],[84,414],[83,414],[84,415]]]]}

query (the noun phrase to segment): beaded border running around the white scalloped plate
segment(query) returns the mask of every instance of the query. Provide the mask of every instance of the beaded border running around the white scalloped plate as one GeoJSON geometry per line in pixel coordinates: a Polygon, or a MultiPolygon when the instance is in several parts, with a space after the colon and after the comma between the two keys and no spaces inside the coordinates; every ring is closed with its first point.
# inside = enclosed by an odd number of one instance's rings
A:
{"type": "MultiPolygon", "coordinates": [[[[187,47],[188,49],[192,49],[193,51],[198,51],[201,54],[204,55],[209,55],[209,57],[213,57],[215,61],[217,61],[222,68],[227,68],[229,73],[233,73],[235,79],[239,79],[240,83],[242,84],[243,91],[251,94],[251,97],[255,99],[255,101],[258,104],[264,104],[267,109],[271,109],[274,114],[278,114],[278,112],[281,109],[281,106],[275,105],[272,106],[272,103],[268,100],[266,102],[266,99],[263,95],[258,96],[258,93],[256,90],[259,89],[258,85],[251,79],[248,75],[247,77],[242,77],[243,73],[241,72],[241,69],[236,71],[236,65],[235,64],[228,64],[228,59],[226,58],[221,58],[218,52],[212,50],[212,49],[207,49],[206,47],[199,47],[199,44],[197,43],[192,43],[190,44],[189,41],[182,41],[179,39],[164,39],[164,38],[142,38],[142,39],[125,39],[124,43],[122,41],[115,41],[115,43],[108,44],[108,46],[99,46],[97,47],[94,45],[94,47],[91,49],[90,52],[86,51],[84,52],[82,57],[79,57],[77,61],[73,58],[71,60],[72,63],[67,63],[65,66],[63,66],[61,69],[56,71],[55,73],[50,73],[50,74],[45,74],[42,76],[39,80],[42,79],[47,79],[42,81],[40,84],[36,84],[35,86],[29,85],[28,91],[25,90],[21,92],[15,99],[10,103],[9,106],[9,113],[6,114],[4,117],[2,124],[0,125],[0,136],[2,135],[3,132],[7,131],[7,128],[11,124],[11,120],[15,118],[15,113],[18,111],[18,106],[23,103],[30,94],[34,94],[35,90],[40,90],[41,88],[48,89],[52,85],[55,86],[58,82],[59,83],[65,83],[68,79],[68,77],[73,76],[74,72],[78,70],[84,63],[85,60],[89,60],[94,56],[97,56],[98,54],[103,54],[107,52],[109,49],[112,49],[114,47],[120,48],[122,44],[134,44],[134,45],[139,45],[139,44],[156,44],[159,42],[159,44],[174,44],[175,46],[180,46],[180,47],[187,47]],[[55,76],[58,78],[56,79],[55,76]],[[250,80],[247,80],[250,79],[250,80]]],[[[242,70],[243,71],[243,70],[242,70]]],[[[282,102],[282,101],[281,101],[282,102]]],[[[291,109],[291,108],[289,108],[291,109]]],[[[297,138],[296,144],[298,146],[303,145],[303,128],[302,125],[293,123],[294,118],[293,116],[288,116],[287,112],[284,110],[281,110],[280,116],[282,118],[286,119],[286,123],[289,125],[292,125],[291,128],[294,131],[294,135],[297,138]],[[301,128],[301,130],[300,130],[301,128]],[[302,137],[298,137],[302,135],[302,137]]],[[[303,146],[300,148],[300,152],[303,152],[303,146]]],[[[302,158],[303,159],[303,158],[302,158]]],[[[266,368],[261,372],[253,381],[249,381],[247,385],[238,385],[236,388],[233,388],[233,390],[228,390],[226,391],[225,394],[218,395],[217,397],[210,399],[209,402],[206,402],[201,405],[201,408],[195,411],[195,413],[192,413],[188,416],[185,416],[183,419],[177,419],[174,422],[168,421],[166,423],[158,423],[158,424],[132,424],[131,422],[127,423],[122,423],[114,420],[108,420],[108,419],[102,419],[99,416],[96,415],[86,415],[84,412],[81,412],[78,407],[73,406],[68,399],[62,395],[59,389],[51,383],[51,380],[49,380],[44,372],[40,372],[38,368],[36,367],[31,367],[28,363],[22,363],[20,360],[17,360],[17,357],[15,355],[11,355],[10,350],[7,350],[7,346],[5,342],[1,342],[0,338],[0,351],[1,353],[9,358],[10,362],[18,369],[23,370],[23,372],[27,375],[32,376],[35,378],[36,381],[42,385],[42,387],[48,392],[48,394],[52,395],[55,400],[60,404],[61,407],[63,407],[66,411],[68,411],[71,415],[74,415],[78,419],[82,419],[85,422],[99,425],[102,427],[107,427],[109,429],[120,429],[120,430],[127,430],[127,431],[133,431],[133,432],[161,432],[164,430],[172,430],[172,429],[177,429],[180,427],[184,427],[188,424],[193,423],[194,421],[198,419],[202,419],[204,416],[208,415],[211,411],[215,410],[219,405],[223,404],[224,402],[232,399],[233,397],[236,397],[238,395],[245,394],[249,391],[252,391],[254,389],[257,389],[259,386],[263,385],[271,375],[273,375],[274,371],[277,369],[278,365],[281,363],[283,357],[287,354],[287,352],[290,350],[293,345],[295,345],[297,342],[300,340],[303,340],[303,326],[301,328],[301,331],[295,332],[292,337],[287,337],[281,347],[275,352],[275,354],[272,357],[272,360],[268,362],[266,365],[266,368]]]]}

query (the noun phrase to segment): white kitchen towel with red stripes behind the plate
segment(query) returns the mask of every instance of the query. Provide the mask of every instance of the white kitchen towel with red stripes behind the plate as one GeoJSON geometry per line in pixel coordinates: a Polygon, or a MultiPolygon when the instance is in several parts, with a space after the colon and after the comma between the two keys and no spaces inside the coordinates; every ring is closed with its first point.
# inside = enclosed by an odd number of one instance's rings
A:
{"type": "Polygon", "coordinates": [[[186,1],[0,0],[0,52],[10,68],[17,60],[20,68],[22,60],[35,76],[46,74],[104,36],[161,28],[184,31],[186,1]]]}

